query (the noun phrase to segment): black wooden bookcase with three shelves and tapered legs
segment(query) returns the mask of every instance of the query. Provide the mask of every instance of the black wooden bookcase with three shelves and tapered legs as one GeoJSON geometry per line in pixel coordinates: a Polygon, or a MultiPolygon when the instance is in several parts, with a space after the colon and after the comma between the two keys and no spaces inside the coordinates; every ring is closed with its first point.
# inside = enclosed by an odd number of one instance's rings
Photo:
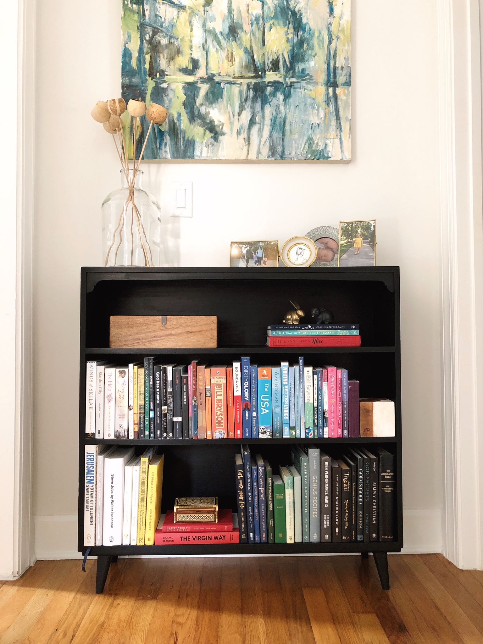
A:
{"type": "Polygon", "coordinates": [[[256,444],[272,464],[290,461],[293,443],[334,445],[378,444],[396,456],[397,529],[393,542],[343,544],[224,544],[224,545],[119,545],[95,546],[96,592],[102,592],[111,562],[119,555],[146,554],[374,554],[384,589],[389,587],[387,553],[403,547],[403,493],[401,466],[401,342],[399,268],[222,269],[111,267],[81,269],[81,346],[79,378],[79,552],[84,546],[84,448],[86,444],[133,444],[136,453],[146,444],[165,454],[162,512],[175,497],[218,496],[220,507],[236,511],[234,454],[240,444],[256,444]],[[361,347],[269,348],[267,325],[281,323],[296,300],[305,313],[319,305],[332,310],[336,321],[359,323],[361,347]],[[109,348],[111,315],[216,315],[218,347],[180,349],[109,348]],[[335,355],[334,355],[335,354],[335,355]],[[283,357],[311,357],[313,366],[335,363],[358,379],[361,397],[395,401],[395,437],[383,439],[253,439],[253,440],[96,440],[86,439],[86,361],[108,360],[128,364],[145,355],[169,355],[170,361],[188,364],[229,364],[251,355],[259,365],[283,357]]]}

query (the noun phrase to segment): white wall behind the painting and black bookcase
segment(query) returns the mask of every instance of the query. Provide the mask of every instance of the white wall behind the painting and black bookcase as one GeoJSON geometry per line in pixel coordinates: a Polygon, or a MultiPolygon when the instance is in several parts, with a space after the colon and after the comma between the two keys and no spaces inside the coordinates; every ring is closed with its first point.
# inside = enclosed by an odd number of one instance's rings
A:
{"type": "MultiPolygon", "coordinates": [[[[162,199],[193,181],[193,219],[167,220],[170,263],[227,263],[229,242],[377,218],[378,265],[401,266],[404,538],[440,551],[437,20],[433,0],[353,1],[350,164],[144,166],[162,199]],[[175,222],[175,223],[173,223],[175,222]],[[206,251],[209,247],[209,252],[206,251]]],[[[100,203],[118,184],[90,118],[119,94],[120,0],[43,0],[37,25],[35,469],[39,558],[75,553],[79,268],[99,265],[100,203]]]]}

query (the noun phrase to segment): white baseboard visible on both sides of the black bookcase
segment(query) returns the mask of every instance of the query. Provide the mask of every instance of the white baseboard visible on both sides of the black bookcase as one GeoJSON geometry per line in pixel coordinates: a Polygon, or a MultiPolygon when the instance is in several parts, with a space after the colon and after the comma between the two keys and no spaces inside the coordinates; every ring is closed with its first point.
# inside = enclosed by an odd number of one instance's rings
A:
{"type": "MultiPolygon", "coordinates": [[[[404,510],[403,554],[441,551],[441,509],[404,510]]],[[[77,515],[35,516],[35,556],[39,560],[81,559],[77,552],[77,515]]]]}

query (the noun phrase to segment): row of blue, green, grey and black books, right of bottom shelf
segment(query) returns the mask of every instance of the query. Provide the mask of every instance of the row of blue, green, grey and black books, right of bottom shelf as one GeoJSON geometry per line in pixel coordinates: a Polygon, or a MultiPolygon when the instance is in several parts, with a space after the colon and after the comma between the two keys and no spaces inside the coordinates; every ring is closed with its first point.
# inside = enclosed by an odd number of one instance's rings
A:
{"type": "Polygon", "coordinates": [[[328,455],[294,445],[275,474],[247,445],[235,456],[240,543],[386,542],[395,535],[395,459],[383,448],[328,455]]]}

